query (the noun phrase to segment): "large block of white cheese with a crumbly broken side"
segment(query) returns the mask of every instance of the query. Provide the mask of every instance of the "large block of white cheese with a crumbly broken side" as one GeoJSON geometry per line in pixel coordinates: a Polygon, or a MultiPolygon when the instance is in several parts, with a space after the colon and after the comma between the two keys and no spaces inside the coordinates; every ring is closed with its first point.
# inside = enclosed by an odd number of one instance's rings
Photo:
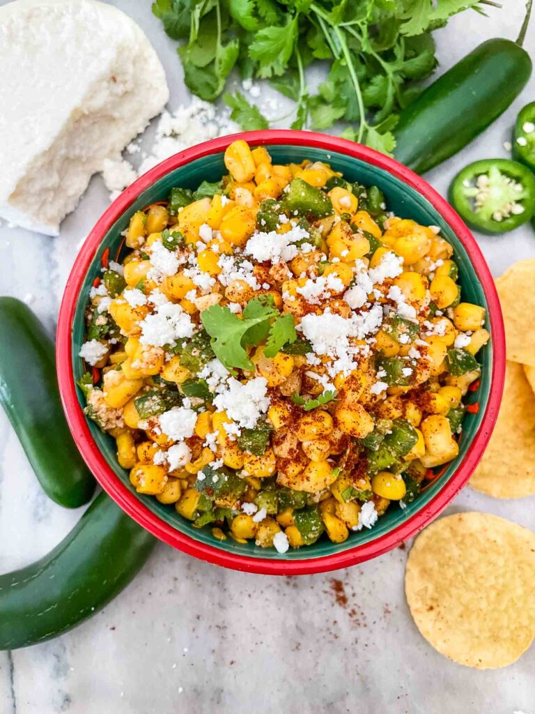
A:
{"type": "Polygon", "coordinates": [[[54,236],[89,179],[168,101],[136,23],[96,0],[0,7],[0,218],[54,236]]]}

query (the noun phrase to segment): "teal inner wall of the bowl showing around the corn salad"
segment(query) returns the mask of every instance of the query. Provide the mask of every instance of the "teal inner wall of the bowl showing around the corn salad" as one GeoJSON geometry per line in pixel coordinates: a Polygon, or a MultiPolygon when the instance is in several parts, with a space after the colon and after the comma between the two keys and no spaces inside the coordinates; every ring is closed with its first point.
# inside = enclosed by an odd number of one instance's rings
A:
{"type": "MultiPolygon", "coordinates": [[[[444,238],[452,243],[454,248],[454,259],[459,266],[459,281],[462,286],[462,299],[477,303],[485,308],[488,308],[483,289],[479,280],[474,273],[474,268],[464,250],[462,243],[455,236],[452,228],[441,218],[436,208],[427,201],[424,196],[417,193],[413,188],[395,178],[387,171],[379,169],[377,166],[366,164],[364,161],[354,159],[344,154],[339,154],[335,151],[325,151],[324,149],[293,147],[285,145],[271,145],[268,147],[274,163],[287,164],[289,162],[300,162],[302,159],[310,159],[311,161],[327,161],[336,171],[342,171],[345,178],[349,181],[359,181],[365,185],[376,185],[384,191],[387,199],[387,208],[394,211],[397,216],[402,218],[414,218],[415,221],[423,223],[427,226],[439,226],[444,238]]],[[[110,230],[104,236],[101,243],[100,251],[97,251],[96,256],[91,262],[91,266],[83,283],[83,289],[76,304],[76,312],[73,320],[73,340],[72,340],[72,358],[74,366],[74,377],[78,381],[83,374],[83,363],[78,352],[81,344],[84,341],[85,325],[84,311],[89,297],[89,290],[93,280],[101,275],[101,256],[106,248],[110,248],[112,257],[116,257],[118,246],[121,244],[121,232],[128,226],[133,213],[148,206],[155,201],[162,201],[168,198],[169,191],[173,186],[183,186],[184,188],[197,188],[201,181],[218,181],[225,174],[225,165],[223,164],[223,152],[205,156],[202,159],[192,161],[190,164],[181,166],[174,171],[171,171],[166,176],[160,178],[156,183],[146,191],[143,191],[140,196],[132,203],[128,211],[111,226],[110,230]]],[[[488,309],[487,309],[488,313],[488,309]]],[[[88,426],[93,435],[98,448],[100,448],[103,456],[106,458],[109,466],[116,473],[123,484],[138,498],[143,504],[165,523],[168,523],[173,528],[176,528],[181,533],[188,535],[193,540],[198,540],[202,543],[210,545],[213,548],[226,550],[234,555],[248,555],[255,558],[280,558],[281,560],[307,560],[308,558],[318,558],[322,556],[332,555],[333,553],[342,553],[345,550],[355,548],[355,546],[369,543],[370,541],[379,538],[392,531],[397,526],[400,526],[415,513],[422,511],[432,499],[437,496],[449,478],[452,477],[454,471],[459,466],[459,463],[464,458],[467,449],[469,448],[472,439],[476,435],[481,420],[486,408],[486,402],[490,391],[491,378],[491,346],[485,346],[479,353],[479,361],[482,362],[481,370],[481,386],[477,394],[479,401],[478,413],[467,413],[464,418],[463,433],[459,443],[459,456],[449,464],[442,475],[427,486],[413,503],[410,503],[406,508],[400,508],[396,504],[390,506],[387,513],[379,518],[375,526],[370,529],[364,529],[360,532],[351,533],[345,543],[331,543],[325,536],[314,545],[306,548],[290,549],[284,555],[276,553],[273,548],[259,548],[254,543],[247,544],[236,543],[235,540],[228,538],[221,541],[213,538],[210,531],[210,526],[204,528],[193,528],[189,521],[179,516],[175,512],[173,506],[165,506],[156,501],[153,496],[143,496],[136,493],[133,486],[128,481],[128,472],[118,465],[116,458],[115,440],[103,433],[96,424],[88,420],[88,426]]],[[[81,406],[84,406],[83,395],[78,388],[78,400],[81,406]]]]}

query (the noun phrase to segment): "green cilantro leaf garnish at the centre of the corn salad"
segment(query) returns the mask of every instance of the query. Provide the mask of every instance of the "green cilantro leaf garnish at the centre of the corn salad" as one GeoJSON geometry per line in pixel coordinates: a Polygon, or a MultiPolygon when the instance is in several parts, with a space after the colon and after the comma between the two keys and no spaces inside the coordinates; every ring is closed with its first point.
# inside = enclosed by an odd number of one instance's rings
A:
{"type": "Polygon", "coordinates": [[[291,315],[281,315],[272,296],[260,295],[245,306],[241,317],[227,307],[213,305],[201,313],[215,356],[226,368],[253,369],[246,348],[265,342],[266,357],[297,339],[291,315]]]}

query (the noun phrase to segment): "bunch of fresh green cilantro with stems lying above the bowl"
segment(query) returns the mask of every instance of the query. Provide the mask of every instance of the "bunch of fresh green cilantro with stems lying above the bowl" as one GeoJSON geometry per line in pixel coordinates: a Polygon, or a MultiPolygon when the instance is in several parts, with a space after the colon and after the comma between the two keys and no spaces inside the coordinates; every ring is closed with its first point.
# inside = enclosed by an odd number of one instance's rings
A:
{"type": "MultiPolygon", "coordinates": [[[[292,129],[349,124],[342,136],[391,153],[397,114],[414,83],[437,65],[432,30],[491,0],[156,0],[153,13],[178,48],[185,84],[214,101],[236,67],[242,79],[267,79],[293,99],[292,129]],[[313,93],[305,69],[327,64],[313,93]]],[[[269,122],[245,96],[223,96],[243,129],[269,122]]]]}

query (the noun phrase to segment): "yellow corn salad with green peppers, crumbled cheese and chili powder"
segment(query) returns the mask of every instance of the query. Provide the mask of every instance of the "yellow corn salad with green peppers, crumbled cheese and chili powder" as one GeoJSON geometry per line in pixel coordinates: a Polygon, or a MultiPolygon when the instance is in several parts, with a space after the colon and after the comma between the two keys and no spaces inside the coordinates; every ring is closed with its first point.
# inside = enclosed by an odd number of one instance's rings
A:
{"type": "Polygon", "coordinates": [[[245,141],[224,160],[133,213],[106,257],[86,415],[138,493],[212,538],[343,543],[457,457],[485,310],[439,228],[377,186],[245,141]]]}

